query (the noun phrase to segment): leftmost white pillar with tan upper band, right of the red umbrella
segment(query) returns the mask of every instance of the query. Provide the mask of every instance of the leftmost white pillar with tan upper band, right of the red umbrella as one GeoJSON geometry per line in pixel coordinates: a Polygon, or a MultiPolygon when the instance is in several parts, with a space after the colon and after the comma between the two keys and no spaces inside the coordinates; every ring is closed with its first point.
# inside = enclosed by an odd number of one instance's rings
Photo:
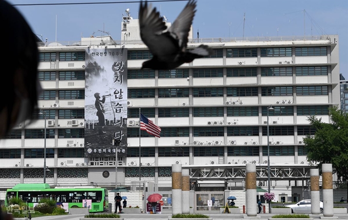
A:
{"type": "Polygon", "coordinates": [[[182,177],[181,164],[171,165],[171,212],[182,214],[182,177]]]}

